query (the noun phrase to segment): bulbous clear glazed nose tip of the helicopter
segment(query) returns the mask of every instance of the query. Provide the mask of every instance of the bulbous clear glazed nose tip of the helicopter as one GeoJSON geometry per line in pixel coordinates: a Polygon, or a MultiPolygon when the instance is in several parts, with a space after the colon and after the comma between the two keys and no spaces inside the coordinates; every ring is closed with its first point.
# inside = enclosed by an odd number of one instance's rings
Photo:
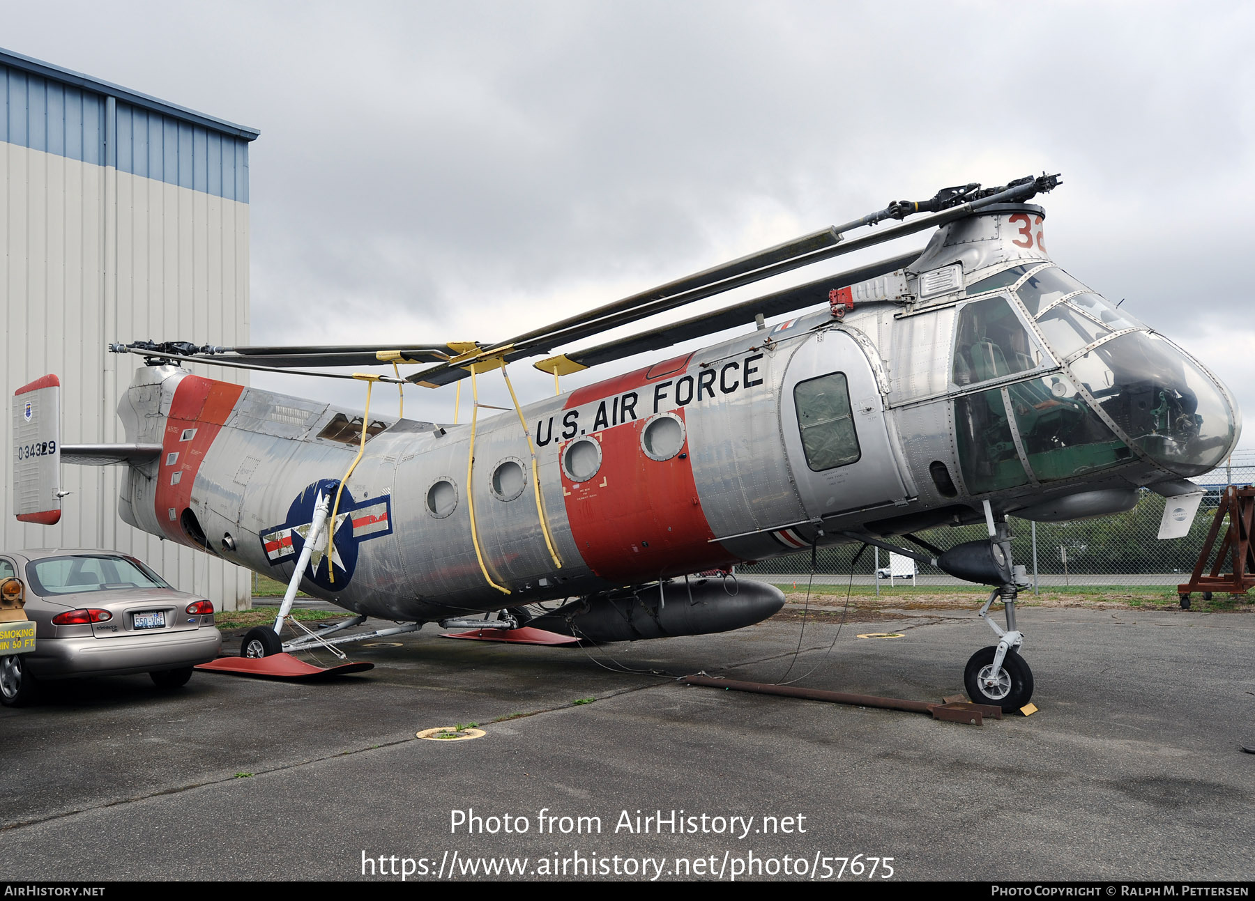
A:
{"type": "Polygon", "coordinates": [[[1161,335],[1119,335],[1071,368],[1127,439],[1178,476],[1215,468],[1237,443],[1241,414],[1232,394],[1161,335]]]}

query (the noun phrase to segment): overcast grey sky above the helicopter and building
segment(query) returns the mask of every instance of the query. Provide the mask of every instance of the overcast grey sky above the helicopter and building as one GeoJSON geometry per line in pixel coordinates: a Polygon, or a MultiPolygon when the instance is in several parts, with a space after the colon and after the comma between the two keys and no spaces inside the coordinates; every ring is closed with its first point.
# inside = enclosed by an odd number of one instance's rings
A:
{"type": "MultiPolygon", "coordinates": [[[[261,129],[254,343],[491,341],[894,198],[1048,169],[1055,261],[1249,418],[1252,36],[1239,3],[0,0],[0,46],[261,129]]],[[[552,390],[512,369],[525,397],[552,390]]],[[[452,388],[410,397],[452,418],[452,388]]]]}

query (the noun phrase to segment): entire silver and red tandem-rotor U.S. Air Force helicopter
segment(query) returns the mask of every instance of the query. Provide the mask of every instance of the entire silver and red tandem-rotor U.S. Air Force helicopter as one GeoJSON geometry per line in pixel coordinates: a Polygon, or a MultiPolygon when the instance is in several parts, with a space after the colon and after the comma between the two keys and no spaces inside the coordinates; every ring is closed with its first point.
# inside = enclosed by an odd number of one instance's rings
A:
{"type": "Polygon", "coordinates": [[[732,596],[690,573],[863,542],[991,586],[979,616],[996,644],[968,661],[965,686],[1013,710],[1033,676],[1007,516],[1116,513],[1147,487],[1170,498],[1160,537],[1178,537],[1201,497],[1186,479],[1224,459],[1240,429],[1232,395],[1202,364],[1050,260],[1045,213],[1027,201],[1059,183],[894,202],[503,341],[110,345],[144,360],[118,404],[128,443],[61,445],[55,376],[19,389],[18,518],[56,522],[63,462],[125,466],[125,522],[290,581],[275,626],[245,636],[242,654],[257,658],[430,621],[507,637],[526,622],[594,641],[724,631],[771,616],[783,595],[742,582],[732,596]],[[885,220],[900,223],[851,236],[885,220]],[[581,344],[929,228],[922,250],[581,344]],[[783,314],[798,315],[766,326],[783,314]],[[477,379],[499,369],[508,385],[515,360],[563,350],[535,364],[557,388],[561,375],[742,325],[756,328],[537,403],[520,405],[511,387],[513,409],[479,415],[477,379]],[[392,374],[343,376],[368,381],[356,412],[188,371],[200,363],[392,374]],[[402,379],[407,364],[422,368],[402,379]],[[467,378],[469,423],[369,413],[375,383],[467,378]],[[915,536],[974,522],[988,540],[943,550],[915,536]],[[284,645],[297,587],[356,614],[344,627],[368,616],[398,625],[284,645]],[[561,600],[535,617],[525,609],[561,600]],[[995,601],[1005,629],[990,617],[995,601]]]}

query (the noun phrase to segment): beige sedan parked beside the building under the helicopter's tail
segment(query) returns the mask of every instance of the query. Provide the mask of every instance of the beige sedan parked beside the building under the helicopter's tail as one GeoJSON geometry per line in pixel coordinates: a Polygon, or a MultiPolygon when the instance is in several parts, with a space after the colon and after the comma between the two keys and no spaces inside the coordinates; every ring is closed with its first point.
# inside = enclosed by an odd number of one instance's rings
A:
{"type": "Polygon", "coordinates": [[[222,634],[213,604],[176,591],[143,562],[117,551],[0,553],[0,581],[26,590],[35,650],[0,658],[0,703],[31,703],[39,683],[148,673],[161,688],[192,678],[213,660],[222,634]]]}

